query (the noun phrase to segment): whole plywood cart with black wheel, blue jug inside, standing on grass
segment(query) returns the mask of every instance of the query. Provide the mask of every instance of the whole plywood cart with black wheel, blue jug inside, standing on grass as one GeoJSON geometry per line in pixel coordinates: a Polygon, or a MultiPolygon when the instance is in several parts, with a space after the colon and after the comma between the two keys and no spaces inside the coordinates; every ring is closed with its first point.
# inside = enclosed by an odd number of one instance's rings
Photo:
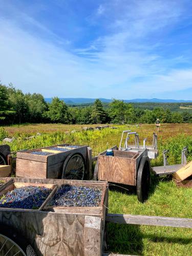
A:
{"type": "Polygon", "coordinates": [[[144,202],[148,197],[151,165],[147,148],[140,151],[119,151],[112,147],[114,156],[106,156],[106,151],[98,155],[94,180],[132,185],[137,188],[137,197],[144,202]]]}

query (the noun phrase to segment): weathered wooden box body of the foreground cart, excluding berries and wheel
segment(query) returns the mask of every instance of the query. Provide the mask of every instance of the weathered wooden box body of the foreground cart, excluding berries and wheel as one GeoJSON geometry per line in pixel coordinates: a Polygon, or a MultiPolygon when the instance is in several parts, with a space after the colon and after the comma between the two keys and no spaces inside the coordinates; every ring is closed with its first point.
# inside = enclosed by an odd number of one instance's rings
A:
{"type": "Polygon", "coordinates": [[[99,207],[66,207],[57,212],[0,209],[0,223],[22,233],[37,255],[102,254],[105,211],[108,206],[107,182],[27,178],[13,178],[13,182],[86,185],[102,189],[99,207]],[[84,211],[80,208],[84,208],[84,211]]]}

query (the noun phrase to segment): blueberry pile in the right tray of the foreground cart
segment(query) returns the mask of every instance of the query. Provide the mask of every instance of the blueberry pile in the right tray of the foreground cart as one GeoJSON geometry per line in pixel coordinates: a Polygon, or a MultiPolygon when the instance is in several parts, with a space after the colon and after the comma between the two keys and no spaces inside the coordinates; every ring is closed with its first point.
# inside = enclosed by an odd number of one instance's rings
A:
{"type": "Polygon", "coordinates": [[[62,185],[51,206],[99,206],[102,191],[96,187],[62,185]]]}

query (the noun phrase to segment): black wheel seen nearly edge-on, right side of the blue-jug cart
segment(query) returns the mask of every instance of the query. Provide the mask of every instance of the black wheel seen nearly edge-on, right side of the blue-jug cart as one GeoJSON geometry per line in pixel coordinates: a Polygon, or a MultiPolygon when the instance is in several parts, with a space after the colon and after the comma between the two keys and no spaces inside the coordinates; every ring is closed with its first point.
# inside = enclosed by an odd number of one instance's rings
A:
{"type": "Polygon", "coordinates": [[[143,203],[148,198],[150,190],[151,165],[147,156],[141,158],[137,173],[137,198],[143,203]]]}

